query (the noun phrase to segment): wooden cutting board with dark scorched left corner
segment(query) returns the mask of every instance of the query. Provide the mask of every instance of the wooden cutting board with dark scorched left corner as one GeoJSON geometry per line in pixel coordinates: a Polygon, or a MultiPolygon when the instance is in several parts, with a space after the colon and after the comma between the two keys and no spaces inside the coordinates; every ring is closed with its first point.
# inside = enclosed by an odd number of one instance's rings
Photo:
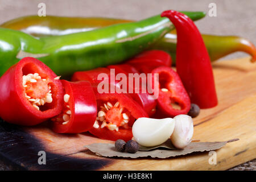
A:
{"type": "MultiPolygon", "coordinates": [[[[18,127],[0,122],[0,159],[22,169],[84,170],[225,170],[256,158],[256,64],[249,57],[213,63],[218,106],[201,110],[194,119],[193,139],[201,142],[239,138],[217,150],[217,164],[209,164],[209,152],[156,158],[103,158],[84,146],[109,143],[88,133],[56,134],[47,123],[18,127]],[[38,164],[39,151],[46,165],[38,164]]],[[[14,113],[15,114],[15,113],[14,113]]]]}

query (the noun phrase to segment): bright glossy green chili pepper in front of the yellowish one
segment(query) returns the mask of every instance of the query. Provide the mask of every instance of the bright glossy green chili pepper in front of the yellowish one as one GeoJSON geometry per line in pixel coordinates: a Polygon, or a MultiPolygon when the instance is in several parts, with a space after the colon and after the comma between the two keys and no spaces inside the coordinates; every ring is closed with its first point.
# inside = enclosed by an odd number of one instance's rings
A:
{"type": "MultiPolygon", "coordinates": [[[[195,18],[204,13],[187,15],[195,18]]],[[[0,28],[0,75],[27,56],[38,58],[57,75],[63,76],[117,64],[148,49],[173,29],[170,20],[160,15],[139,22],[39,39],[24,32],[0,28]]]]}

